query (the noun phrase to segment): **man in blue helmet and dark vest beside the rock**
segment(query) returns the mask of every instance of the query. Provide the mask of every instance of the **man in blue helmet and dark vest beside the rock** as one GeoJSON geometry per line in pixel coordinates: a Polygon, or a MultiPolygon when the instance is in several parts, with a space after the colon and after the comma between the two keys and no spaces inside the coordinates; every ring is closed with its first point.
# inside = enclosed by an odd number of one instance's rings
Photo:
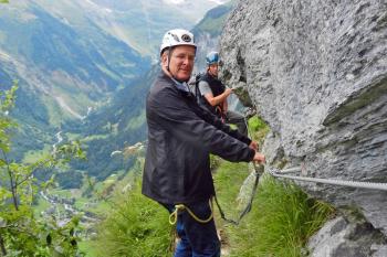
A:
{"type": "Polygon", "coordinates": [[[232,89],[226,87],[220,79],[218,79],[219,68],[219,53],[210,52],[206,56],[207,73],[200,78],[199,90],[203,98],[205,106],[218,117],[223,117],[228,124],[234,124],[238,127],[239,132],[247,136],[248,128],[244,117],[228,109],[227,97],[232,93],[232,89]]]}

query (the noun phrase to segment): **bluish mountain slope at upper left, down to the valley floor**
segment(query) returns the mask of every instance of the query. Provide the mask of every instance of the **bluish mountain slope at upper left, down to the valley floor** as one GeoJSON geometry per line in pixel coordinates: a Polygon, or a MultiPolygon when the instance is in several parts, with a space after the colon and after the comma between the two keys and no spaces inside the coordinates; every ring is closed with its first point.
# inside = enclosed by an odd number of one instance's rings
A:
{"type": "Polygon", "coordinates": [[[32,1],[0,6],[0,85],[19,81],[19,121],[14,158],[48,149],[67,120],[82,119],[127,79],[146,69],[149,60],[125,43],[101,33],[69,26],[32,1]]]}

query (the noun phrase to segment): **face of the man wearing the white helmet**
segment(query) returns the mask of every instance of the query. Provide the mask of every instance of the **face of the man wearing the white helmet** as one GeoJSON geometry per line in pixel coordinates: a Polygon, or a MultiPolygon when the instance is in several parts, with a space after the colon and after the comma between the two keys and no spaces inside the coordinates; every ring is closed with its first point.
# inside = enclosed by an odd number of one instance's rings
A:
{"type": "MultiPolygon", "coordinates": [[[[187,82],[191,76],[195,62],[195,47],[179,45],[174,47],[169,62],[170,74],[179,82],[187,82]]],[[[163,58],[164,65],[168,65],[167,56],[163,58]]]]}

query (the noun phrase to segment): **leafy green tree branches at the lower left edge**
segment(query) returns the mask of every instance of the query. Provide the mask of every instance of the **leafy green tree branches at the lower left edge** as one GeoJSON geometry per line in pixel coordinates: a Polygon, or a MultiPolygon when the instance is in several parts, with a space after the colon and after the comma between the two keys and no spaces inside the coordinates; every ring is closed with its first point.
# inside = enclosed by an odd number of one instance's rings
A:
{"type": "Polygon", "coordinates": [[[52,185],[55,179],[52,175],[40,182],[34,178],[38,172],[64,165],[72,158],[85,159],[85,153],[75,141],[57,147],[32,164],[10,160],[10,131],[17,125],[9,111],[17,89],[14,83],[11,89],[0,92],[0,256],[81,256],[76,236],[80,217],[64,226],[59,226],[54,217],[38,221],[32,203],[38,191],[52,185]]]}

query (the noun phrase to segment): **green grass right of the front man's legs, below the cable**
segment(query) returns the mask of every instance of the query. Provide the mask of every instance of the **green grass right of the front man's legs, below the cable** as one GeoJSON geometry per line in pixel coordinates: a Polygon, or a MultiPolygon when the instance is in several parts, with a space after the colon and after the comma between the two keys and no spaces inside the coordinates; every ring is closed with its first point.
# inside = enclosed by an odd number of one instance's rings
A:
{"type": "MultiPolygon", "coordinates": [[[[245,178],[241,170],[245,167],[223,162],[216,174],[218,197],[228,203],[222,207],[233,215],[238,206],[237,194],[245,178]],[[230,211],[232,208],[234,211],[230,211]]],[[[265,175],[261,179],[252,211],[240,226],[219,224],[229,237],[230,256],[297,257],[303,256],[307,238],[332,213],[332,207],[310,199],[295,184],[265,175]]]]}

